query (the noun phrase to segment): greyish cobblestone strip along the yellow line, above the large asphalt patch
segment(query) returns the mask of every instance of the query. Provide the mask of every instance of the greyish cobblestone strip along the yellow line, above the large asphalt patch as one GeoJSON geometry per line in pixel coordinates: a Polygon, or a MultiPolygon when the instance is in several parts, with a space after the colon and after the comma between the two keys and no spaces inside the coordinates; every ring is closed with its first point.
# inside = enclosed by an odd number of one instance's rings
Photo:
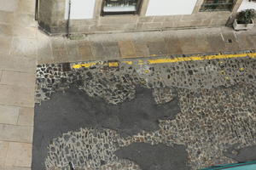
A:
{"type": "MultiPolygon", "coordinates": [[[[79,70],[63,71],[61,64],[38,65],[36,101],[48,99],[55,90],[75,83],[89,96],[98,96],[110,104],[119,104],[134,98],[136,86],[147,88],[217,88],[230,87],[238,82],[253,83],[256,78],[255,59],[213,59],[163,65],[126,65],[119,67],[96,65],[79,70]]],[[[156,89],[157,90],[157,89],[156,89]]],[[[170,100],[161,89],[157,103],[170,100]]],[[[170,89],[171,90],[171,89],[170,89]]],[[[172,95],[172,92],[169,92],[172,95]]],[[[174,92],[173,92],[174,93],[174,92]]]]}

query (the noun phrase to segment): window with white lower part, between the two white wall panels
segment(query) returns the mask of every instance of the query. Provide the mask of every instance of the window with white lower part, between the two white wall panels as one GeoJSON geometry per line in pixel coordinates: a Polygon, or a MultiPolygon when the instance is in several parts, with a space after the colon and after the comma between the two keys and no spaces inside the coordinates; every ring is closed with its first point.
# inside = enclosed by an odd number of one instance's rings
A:
{"type": "Polygon", "coordinates": [[[142,0],[104,0],[102,15],[138,14],[142,0]]]}

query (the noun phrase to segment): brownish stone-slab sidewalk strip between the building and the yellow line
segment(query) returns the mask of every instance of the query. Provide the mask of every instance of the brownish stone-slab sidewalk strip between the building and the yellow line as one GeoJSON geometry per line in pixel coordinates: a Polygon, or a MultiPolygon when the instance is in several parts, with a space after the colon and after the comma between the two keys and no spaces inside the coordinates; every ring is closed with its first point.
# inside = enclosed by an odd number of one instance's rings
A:
{"type": "Polygon", "coordinates": [[[38,64],[209,54],[256,49],[256,28],[229,27],[39,38],[38,64]]]}

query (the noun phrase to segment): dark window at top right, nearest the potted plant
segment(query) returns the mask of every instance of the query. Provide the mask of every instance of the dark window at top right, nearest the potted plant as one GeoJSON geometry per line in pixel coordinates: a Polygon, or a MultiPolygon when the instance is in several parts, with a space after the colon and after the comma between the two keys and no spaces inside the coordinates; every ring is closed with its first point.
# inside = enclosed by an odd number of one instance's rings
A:
{"type": "Polygon", "coordinates": [[[200,11],[229,11],[233,4],[234,0],[205,0],[200,11]]]}

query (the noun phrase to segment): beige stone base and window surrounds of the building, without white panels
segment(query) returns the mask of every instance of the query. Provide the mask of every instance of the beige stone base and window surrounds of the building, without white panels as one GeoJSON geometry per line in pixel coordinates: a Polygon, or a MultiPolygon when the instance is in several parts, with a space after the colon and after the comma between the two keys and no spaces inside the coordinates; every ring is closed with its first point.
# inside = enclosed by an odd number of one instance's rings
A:
{"type": "MultiPolygon", "coordinates": [[[[230,16],[236,14],[242,0],[237,0],[230,11],[199,12],[203,0],[198,0],[193,14],[172,16],[145,16],[148,1],[144,0],[138,15],[101,16],[102,0],[96,0],[94,18],[91,20],[70,20],[70,33],[107,33],[124,31],[154,31],[196,27],[224,26],[230,16]]],[[[44,0],[39,8],[39,25],[49,34],[66,34],[67,20],[65,0],[44,0]]]]}

